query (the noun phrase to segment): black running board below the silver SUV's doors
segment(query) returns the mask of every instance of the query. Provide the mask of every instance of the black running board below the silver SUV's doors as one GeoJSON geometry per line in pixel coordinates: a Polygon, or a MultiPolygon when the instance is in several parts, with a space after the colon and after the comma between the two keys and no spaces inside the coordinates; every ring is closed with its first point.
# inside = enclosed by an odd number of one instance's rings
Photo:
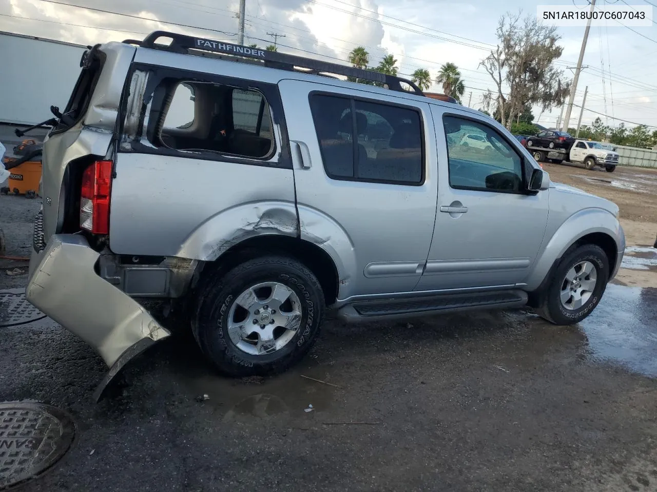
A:
{"type": "Polygon", "coordinates": [[[441,312],[475,309],[522,308],[527,304],[524,291],[496,291],[470,294],[445,294],[431,297],[390,298],[354,302],[338,310],[338,318],[348,323],[374,319],[427,316],[441,312]]]}

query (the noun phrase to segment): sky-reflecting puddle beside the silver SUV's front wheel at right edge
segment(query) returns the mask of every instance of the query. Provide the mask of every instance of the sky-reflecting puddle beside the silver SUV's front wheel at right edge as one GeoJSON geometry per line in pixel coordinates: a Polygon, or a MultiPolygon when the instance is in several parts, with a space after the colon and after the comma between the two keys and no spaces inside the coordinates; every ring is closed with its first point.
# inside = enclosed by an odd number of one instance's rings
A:
{"type": "Polygon", "coordinates": [[[600,304],[579,327],[591,358],[657,377],[657,289],[608,285],[600,304]]]}

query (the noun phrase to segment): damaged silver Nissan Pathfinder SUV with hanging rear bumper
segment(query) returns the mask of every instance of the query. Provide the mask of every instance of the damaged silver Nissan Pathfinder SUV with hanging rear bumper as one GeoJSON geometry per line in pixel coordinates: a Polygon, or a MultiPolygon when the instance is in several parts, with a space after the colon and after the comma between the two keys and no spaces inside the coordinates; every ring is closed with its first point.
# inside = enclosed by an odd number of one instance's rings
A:
{"type": "Polygon", "coordinates": [[[577,323],[620,266],[614,203],[409,81],[162,31],[81,66],[43,146],[27,297],[104,383],[181,319],[240,377],[303,358],[327,308],[577,323]]]}

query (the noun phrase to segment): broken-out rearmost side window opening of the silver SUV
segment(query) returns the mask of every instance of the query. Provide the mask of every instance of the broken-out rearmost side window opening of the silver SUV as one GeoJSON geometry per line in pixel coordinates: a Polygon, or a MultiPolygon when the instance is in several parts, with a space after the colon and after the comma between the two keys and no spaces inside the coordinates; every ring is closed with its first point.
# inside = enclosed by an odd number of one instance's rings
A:
{"type": "Polygon", "coordinates": [[[164,81],[158,91],[164,108],[160,129],[150,134],[152,144],[254,159],[273,154],[271,112],[258,90],[189,80],[164,81]]]}

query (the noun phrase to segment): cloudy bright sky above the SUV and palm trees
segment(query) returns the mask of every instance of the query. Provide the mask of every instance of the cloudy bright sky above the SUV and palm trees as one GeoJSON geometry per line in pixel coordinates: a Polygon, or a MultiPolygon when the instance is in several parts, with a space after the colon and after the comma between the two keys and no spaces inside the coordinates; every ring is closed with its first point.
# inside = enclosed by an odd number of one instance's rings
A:
{"type": "MultiPolygon", "coordinates": [[[[453,62],[466,85],[464,104],[472,92],[470,106],[480,108],[482,94],[493,84],[479,63],[497,43],[499,17],[509,10],[535,14],[537,5],[574,3],[584,7],[586,0],[246,0],[245,42],[264,46],[273,42],[269,33],[279,33],[285,35],[278,39],[279,51],[333,61],[346,60],[351,49],[363,45],[371,64],[392,53],[405,75],[427,68],[435,77],[441,64],[453,62]]],[[[623,0],[625,5],[648,3],[657,1],[623,0]]],[[[157,29],[235,41],[237,11],[238,0],[0,0],[0,30],[83,45],[139,39],[157,29]]],[[[608,115],[601,117],[611,126],[624,119],[657,128],[657,67],[652,63],[657,28],[632,29],[615,21],[591,28],[584,58],[588,68],[579,77],[575,100],[581,104],[588,85],[591,111],[585,111],[582,123],[591,123],[597,112],[608,115]]],[[[557,63],[570,75],[583,31],[559,29],[564,54],[557,63]]],[[[552,126],[558,115],[558,109],[543,113],[539,123],[552,126]]],[[[578,116],[574,108],[570,126],[578,116]]]]}

